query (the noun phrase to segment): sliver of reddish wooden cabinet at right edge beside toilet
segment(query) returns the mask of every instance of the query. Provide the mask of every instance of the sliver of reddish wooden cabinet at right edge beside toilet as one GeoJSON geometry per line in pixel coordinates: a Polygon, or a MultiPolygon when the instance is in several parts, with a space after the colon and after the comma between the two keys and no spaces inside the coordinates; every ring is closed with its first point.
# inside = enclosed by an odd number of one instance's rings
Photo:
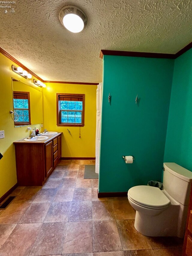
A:
{"type": "Polygon", "coordinates": [[[183,256],[192,256],[192,188],[184,236],[183,256]]]}

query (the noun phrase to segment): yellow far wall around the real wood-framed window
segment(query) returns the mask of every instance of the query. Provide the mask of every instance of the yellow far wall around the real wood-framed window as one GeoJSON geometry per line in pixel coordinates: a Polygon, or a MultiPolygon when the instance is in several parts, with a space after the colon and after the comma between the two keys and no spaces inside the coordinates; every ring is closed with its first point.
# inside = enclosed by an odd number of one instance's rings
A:
{"type": "Polygon", "coordinates": [[[63,132],[62,157],[95,157],[96,89],[96,85],[46,83],[43,89],[44,128],[63,132]],[[80,128],[81,138],[79,127],[56,125],[56,93],[85,94],[85,125],[80,128]]]}

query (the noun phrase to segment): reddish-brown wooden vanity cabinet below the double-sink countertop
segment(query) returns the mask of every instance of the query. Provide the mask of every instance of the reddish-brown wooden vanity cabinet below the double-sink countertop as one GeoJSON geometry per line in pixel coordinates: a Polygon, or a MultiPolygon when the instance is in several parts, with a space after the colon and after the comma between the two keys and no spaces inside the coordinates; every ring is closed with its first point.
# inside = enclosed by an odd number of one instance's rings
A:
{"type": "Polygon", "coordinates": [[[46,143],[16,141],[18,186],[42,186],[61,158],[61,135],[46,143]]]}

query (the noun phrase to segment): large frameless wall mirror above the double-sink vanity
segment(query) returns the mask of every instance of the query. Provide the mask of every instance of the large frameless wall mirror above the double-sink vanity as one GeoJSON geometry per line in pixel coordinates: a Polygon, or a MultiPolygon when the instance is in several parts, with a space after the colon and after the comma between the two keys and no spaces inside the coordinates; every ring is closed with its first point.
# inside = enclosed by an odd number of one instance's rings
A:
{"type": "Polygon", "coordinates": [[[40,88],[12,78],[15,127],[43,123],[43,94],[40,88]]]}

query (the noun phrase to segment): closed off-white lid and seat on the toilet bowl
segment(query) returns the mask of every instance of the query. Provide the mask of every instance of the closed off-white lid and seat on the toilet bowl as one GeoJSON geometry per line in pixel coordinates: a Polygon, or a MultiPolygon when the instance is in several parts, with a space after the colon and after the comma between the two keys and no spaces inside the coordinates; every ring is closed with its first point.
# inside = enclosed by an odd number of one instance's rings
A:
{"type": "Polygon", "coordinates": [[[159,188],[146,185],[130,188],[128,190],[128,196],[144,207],[163,208],[170,204],[170,200],[159,188]]]}

